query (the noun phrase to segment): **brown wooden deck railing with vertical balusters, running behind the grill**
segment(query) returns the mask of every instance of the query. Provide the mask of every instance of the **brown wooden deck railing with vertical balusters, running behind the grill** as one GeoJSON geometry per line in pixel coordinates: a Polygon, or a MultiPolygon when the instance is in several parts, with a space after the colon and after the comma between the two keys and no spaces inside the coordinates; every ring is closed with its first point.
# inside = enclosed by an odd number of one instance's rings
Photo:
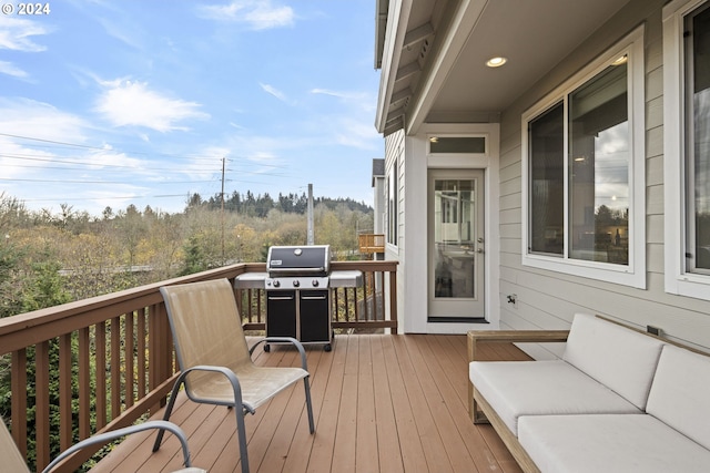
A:
{"type": "MultiPolygon", "coordinates": [[[[334,261],[331,267],[361,269],[366,281],[364,288],[334,290],[333,327],[388,328],[396,333],[396,263],[334,261]]],[[[33,451],[41,471],[57,451],[132,424],[164,404],[178,367],[160,286],[233,281],[240,274],[264,270],[263,264],[233,265],[0,319],[0,358],[10,359],[12,395],[10,419],[0,414],[22,454],[28,457],[33,451]],[[33,439],[28,412],[36,418],[33,439]],[[58,430],[50,426],[57,423],[50,418],[59,419],[58,430]],[[79,439],[73,435],[77,426],[79,439]]],[[[263,291],[241,292],[236,297],[244,327],[263,329],[263,291]]],[[[57,471],[75,471],[97,450],[79,452],[57,471]]]]}

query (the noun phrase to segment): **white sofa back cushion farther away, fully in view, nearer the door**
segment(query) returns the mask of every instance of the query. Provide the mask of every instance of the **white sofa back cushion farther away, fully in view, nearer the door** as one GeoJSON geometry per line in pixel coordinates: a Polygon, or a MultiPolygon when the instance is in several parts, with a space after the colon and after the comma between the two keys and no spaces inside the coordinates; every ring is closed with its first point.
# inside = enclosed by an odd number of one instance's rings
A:
{"type": "Polygon", "coordinates": [[[562,359],[643,410],[663,345],[617,323],[577,313],[562,359]]]}

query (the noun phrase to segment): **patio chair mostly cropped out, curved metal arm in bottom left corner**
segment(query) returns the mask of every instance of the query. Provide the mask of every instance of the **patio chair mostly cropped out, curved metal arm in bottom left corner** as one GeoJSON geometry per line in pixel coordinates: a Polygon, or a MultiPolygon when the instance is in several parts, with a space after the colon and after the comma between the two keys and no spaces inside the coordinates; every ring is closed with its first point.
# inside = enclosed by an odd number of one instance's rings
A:
{"type": "MultiPolygon", "coordinates": [[[[185,465],[184,469],[179,470],[174,473],[206,473],[206,470],[193,467],[190,462],[190,451],[187,450],[187,440],[185,439],[185,434],[178,425],[172,422],[165,421],[148,421],[135,425],[130,425],[123,429],[112,430],[110,432],[100,433],[89,439],[85,439],[75,445],[71,446],[63,451],[59,456],[57,456],[44,470],[42,473],[49,473],[52,471],[54,466],[57,466],[60,462],[67,459],[69,455],[84,449],[89,445],[97,444],[105,444],[112,440],[120,439],[125,435],[130,435],[135,432],[141,432],[149,429],[158,429],[160,432],[164,432],[166,430],[171,431],[179,440],[182,445],[182,454],[183,454],[183,463],[185,465]]],[[[24,463],[24,459],[20,453],[14,440],[12,440],[12,435],[10,435],[10,431],[4,423],[4,419],[0,422],[0,461],[2,464],[0,465],[0,471],[3,472],[12,472],[12,473],[30,473],[30,470],[24,463]]]]}

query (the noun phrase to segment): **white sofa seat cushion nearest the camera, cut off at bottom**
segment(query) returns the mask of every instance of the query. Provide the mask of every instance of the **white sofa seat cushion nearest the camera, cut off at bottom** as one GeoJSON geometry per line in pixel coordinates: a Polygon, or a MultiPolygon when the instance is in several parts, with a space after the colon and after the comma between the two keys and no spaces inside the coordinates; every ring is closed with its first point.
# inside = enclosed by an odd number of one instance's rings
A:
{"type": "Polygon", "coordinates": [[[701,473],[710,451],[652,415],[519,419],[519,441],[544,473],[701,473]]]}

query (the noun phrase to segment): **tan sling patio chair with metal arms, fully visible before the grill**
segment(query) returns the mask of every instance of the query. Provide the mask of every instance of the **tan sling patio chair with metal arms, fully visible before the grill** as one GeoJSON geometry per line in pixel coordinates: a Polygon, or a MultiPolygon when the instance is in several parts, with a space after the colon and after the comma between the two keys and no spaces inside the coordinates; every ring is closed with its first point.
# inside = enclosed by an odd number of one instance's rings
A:
{"type": "MultiPolygon", "coordinates": [[[[248,472],[244,417],[291,384],[303,380],[311,433],[315,432],[306,353],[294,338],[268,337],[250,349],[242,330],[234,297],[227,279],[190,282],[160,288],[173,333],[181,374],[165,408],[170,419],[178,392],[185,385],[194,402],[234,408],[242,472],[248,472]],[[293,343],[301,353],[302,368],[257,367],[252,361],[254,349],[263,342],[293,343]]],[[[153,452],[160,448],[159,433],[153,452]]]]}

